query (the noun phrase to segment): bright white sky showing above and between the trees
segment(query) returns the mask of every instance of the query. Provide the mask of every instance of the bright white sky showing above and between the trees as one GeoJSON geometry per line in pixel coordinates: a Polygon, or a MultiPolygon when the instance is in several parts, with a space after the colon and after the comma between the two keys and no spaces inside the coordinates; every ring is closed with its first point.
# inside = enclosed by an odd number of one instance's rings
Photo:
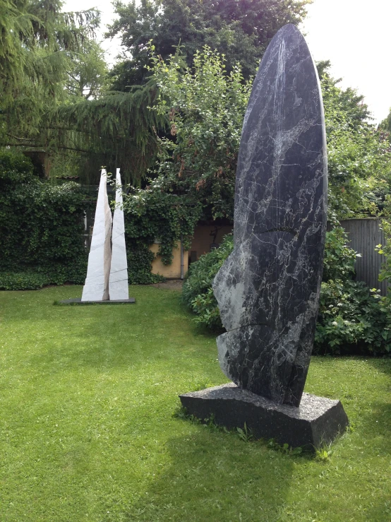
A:
{"type": "MultiPolygon", "coordinates": [[[[65,0],[64,11],[96,7],[102,12],[102,32],[114,19],[110,1],[65,0]]],[[[303,32],[315,60],[329,59],[332,75],[342,86],[365,96],[375,121],[391,107],[391,0],[314,0],[308,6],[303,32]]],[[[119,40],[103,42],[110,63],[119,40]]]]}

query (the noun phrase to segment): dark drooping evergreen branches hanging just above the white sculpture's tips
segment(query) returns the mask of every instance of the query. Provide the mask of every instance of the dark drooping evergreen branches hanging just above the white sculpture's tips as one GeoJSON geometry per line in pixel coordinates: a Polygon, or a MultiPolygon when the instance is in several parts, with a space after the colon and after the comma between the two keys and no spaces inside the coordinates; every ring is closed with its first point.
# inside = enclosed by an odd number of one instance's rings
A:
{"type": "Polygon", "coordinates": [[[131,93],[110,91],[96,100],[59,107],[52,133],[61,146],[71,144],[82,153],[78,161],[85,170],[84,183],[96,184],[105,165],[109,170],[120,166],[124,183],[140,186],[155,164],[157,131],[166,126],[164,115],[150,110],[157,95],[156,83],[150,82],[131,93]]]}

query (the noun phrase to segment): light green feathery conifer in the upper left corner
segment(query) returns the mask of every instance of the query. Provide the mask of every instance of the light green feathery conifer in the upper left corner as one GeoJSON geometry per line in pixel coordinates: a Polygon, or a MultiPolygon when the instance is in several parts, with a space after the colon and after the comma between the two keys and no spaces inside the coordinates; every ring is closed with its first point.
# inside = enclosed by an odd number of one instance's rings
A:
{"type": "MultiPolygon", "coordinates": [[[[3,146],[45,150],[53,146],[56,109],[71,101],[70,75],[79,76],[80,81],[80,57],[89,45],[91,52],[96,51],[90,38],[99,24],[99,13],[93,9],[62,13],[61,5],[59,0],[17,0],[15,4],[0,0],[3,146]]],[[[84,87],[94,85],[96,90],[91,74],[83,80],[84,87]]]]}

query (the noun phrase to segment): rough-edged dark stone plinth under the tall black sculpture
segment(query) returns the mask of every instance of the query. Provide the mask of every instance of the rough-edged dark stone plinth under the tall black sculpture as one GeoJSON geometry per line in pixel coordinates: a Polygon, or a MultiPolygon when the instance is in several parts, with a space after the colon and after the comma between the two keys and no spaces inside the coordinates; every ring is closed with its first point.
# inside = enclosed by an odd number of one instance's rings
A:
{"type": "Polygon", "coordinates": [[[339,401],[303,393],[299,408],[272,403],[229,383],[180,395],[188,413],[200,419],[214,416],[218,425],[246,426],[257,438],[275,439],[294,448],[329,444],[349,425],[339,401]]]}

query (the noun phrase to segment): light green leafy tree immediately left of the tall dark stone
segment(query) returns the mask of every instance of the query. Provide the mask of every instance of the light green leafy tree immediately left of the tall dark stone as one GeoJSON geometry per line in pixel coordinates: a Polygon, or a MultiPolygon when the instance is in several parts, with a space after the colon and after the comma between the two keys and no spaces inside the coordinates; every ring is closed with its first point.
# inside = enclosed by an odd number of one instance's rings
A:
{"type": "Polygon", "coordinates": [[[159,88],[153,111],[169,119],[160,138],[157,176],[150,188],[185,196],[203,205],[203,218],[233,219],[236,162],[241,126],[251,90],[239,66],[228,73],[224,59],[209,47],[196,52],[193,68],[181,57],[151,54],[159,88]]]}

